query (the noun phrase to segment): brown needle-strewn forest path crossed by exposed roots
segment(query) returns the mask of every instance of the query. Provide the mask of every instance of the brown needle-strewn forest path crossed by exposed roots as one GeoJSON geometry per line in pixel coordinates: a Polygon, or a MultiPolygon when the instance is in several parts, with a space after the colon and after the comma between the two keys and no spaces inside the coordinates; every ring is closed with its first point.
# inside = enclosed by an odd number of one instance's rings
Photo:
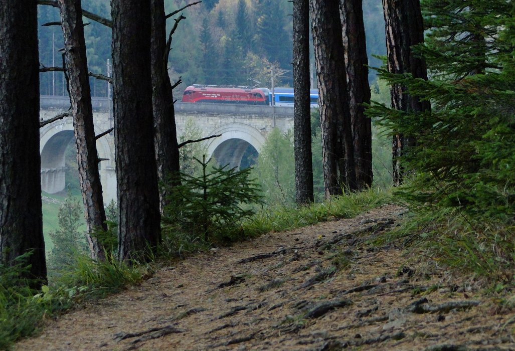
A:
{"type": "Polygon", "coordinates": [[[386,205],[176,261],[15,349],[515,350],[513,295],[367,243],[402,213],[386,205]]]}

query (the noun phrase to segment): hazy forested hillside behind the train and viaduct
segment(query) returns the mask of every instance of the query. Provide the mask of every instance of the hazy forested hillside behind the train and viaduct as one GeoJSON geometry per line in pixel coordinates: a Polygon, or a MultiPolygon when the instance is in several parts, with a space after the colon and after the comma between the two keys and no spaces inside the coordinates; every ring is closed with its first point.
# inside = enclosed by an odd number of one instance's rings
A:
{"type": "MultiPolygon", "coordinates": [[[[193,1],[166,0],[166,12],[179,9],[193,1]]],[[[84,0],[85,10],[110,18],[109,0],[84,0]]],[[[276,78],[276,86],[293,86],[292,61],[292,5],[286,0],[204,0],[183,12],[174,36],[169,58],[172,81],[182,77],[176,96],[191,84],[234,84],[271,86],[271,67],[286,70],[276,78]]],[[[380,66],[372,55],[385,55],[383,9],[379,0],[364,0],[363,12],[367,34],[369,64],[380,66]]],[[[63,47],[62,31],[56,26],[42,26],[59,21],[59,10],[50,6],[38,7],[40,64],[61,66],[59,49],[63,47]]],[[[84,27],[89,70],[107,74],[111,60],[111,29],[94,21],[84,27]]],[[[173,26],[168,19],[167,25],[173,26]]],[[[311,54],[313,56],[313,53],[311,54]]],[[[313,62],[313,60],[312,60],[313,62]]],[[[312,75],[314,66],[311,67],[312,75]]],[[[370,70],[369,81],[375,80],[370,70]]],[[[93,96],[108,96],[108,84],[90,79],[93,96]]],[[[316,80],[312,79],[316,88],[316,80]]],[[[42,95],[66,95],[64,77],[60,72],[40,74],[42,95]]]]}

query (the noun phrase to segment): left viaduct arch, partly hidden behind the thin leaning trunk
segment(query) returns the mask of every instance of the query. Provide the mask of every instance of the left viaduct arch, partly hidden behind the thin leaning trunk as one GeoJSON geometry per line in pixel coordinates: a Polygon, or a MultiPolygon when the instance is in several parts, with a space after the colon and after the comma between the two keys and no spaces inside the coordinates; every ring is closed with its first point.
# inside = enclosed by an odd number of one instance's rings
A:
{"type": "MultiPolygon", "coordinates": [[[[95,130],[95,134],[101,132],[95,130]]],[[[70,143],[74,143],[74,140],[75,134],[71,117],[53,122],[40,129],[41,188],[43,191],[55,194],[65,189],[65,151],[70,143]]],[[[100,163],[100,169],[114,169],[113,153],[105,139],[97,140],[97,153],[101,159],[109,159],[100,163]]]]}

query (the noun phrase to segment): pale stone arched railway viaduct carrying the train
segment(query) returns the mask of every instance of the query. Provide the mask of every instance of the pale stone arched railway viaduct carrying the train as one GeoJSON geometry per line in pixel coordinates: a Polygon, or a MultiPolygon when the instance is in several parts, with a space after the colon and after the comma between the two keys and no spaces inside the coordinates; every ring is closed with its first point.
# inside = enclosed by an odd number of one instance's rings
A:
{"type": "MultiPolygon", "coordinates": [[[[95,133],[113,127],[112,104],[108,98],[93,98],[95,133]]],[[[41,96],[40,119],[46,120],[65,112],[70,106],[66,96],[41,96]]],[[[245,155],[259,154],[273,127],[282,131],[293,128],[293,109],[288,107],[252,106],[244,104],[175,103],[178,137],[193,121],[203,136],[221,136],[204,141],[207,156],[215,156],[220,164],[239,167],[245,155]],[[273,109],[273,110],[272,110],[273,109]]],[[[71,117],[48,124],[40,129],[41,186],[50,194],[66,186],[65,150],[74,141],[71,117]]],[[[114,162],[114,133],[97,141],[100,159],[100,179],[104,201],[116,200],[116,170],[114,162]]]]}

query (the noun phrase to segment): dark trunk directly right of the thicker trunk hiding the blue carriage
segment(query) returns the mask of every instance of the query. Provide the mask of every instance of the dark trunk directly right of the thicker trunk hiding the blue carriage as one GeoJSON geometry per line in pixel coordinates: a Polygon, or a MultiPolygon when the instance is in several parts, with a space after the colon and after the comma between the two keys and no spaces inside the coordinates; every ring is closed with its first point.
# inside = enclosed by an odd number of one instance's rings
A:
{"type": "Polygon", "coordinates": [[[370,103],[368,58],[362,0],[340,0],[340,19],[346,52],[347,90],[358,189],[372,186],[372,126],[363,103],[370,103]]]}

